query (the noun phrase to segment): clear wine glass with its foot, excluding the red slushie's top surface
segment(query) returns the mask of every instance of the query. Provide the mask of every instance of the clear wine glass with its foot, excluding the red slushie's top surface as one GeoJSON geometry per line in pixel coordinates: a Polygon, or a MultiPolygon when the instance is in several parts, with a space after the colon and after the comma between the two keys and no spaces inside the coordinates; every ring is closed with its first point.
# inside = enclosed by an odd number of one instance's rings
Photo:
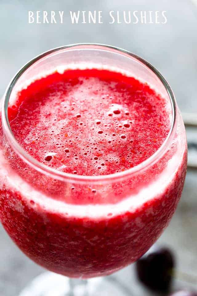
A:
{"type": "Polygon", "coordinates": [[[20,296],[130,294],[106,276],[154,244],[175,212],[186,174],[185,128],[167,81],[123,49],[67,45],[35,57],[14,76],[2,99],[1,121],[1,222],[26,256],[54,272],[36,278],[20,296]],[[119,173],[83,176],[48,167],[19,145],[8,114],[16,94],[39,77],[73,67],[122,71],[166,99],[171,128],[151,157],[119,173]]]}

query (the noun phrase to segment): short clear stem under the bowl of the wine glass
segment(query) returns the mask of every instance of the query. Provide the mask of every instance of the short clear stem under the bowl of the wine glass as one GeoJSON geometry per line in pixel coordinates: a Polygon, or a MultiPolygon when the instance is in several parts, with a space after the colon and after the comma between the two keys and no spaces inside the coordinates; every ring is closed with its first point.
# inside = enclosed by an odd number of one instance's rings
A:
{"type": "Polygon", "coordinates": [[[70,285],[69,296],[88,296],[87,280],[82,280],[80,278],[78,279],[70,278],[69,285],[70,285]]]}

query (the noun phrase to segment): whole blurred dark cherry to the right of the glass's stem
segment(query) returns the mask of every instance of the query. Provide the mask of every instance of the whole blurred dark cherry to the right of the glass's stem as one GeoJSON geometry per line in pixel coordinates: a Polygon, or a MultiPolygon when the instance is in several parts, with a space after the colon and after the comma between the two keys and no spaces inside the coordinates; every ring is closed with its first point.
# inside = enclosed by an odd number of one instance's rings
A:
{"type": "Polygon", "coordinates": [[[174,268],[175,257],[166,247],[153,247],[136,262],[139,280],[151,290],[160,292],[169,290],[174,268]]]}

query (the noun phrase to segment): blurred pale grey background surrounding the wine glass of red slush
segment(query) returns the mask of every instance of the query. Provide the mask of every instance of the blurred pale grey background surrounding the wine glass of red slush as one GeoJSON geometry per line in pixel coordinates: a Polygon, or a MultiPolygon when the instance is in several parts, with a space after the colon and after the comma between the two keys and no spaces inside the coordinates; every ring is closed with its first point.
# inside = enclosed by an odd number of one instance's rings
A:
{"type": "MultiPolygon", "coordinates": [[[[34,56],[69,43],[106,43],[140,55],[171,85],[183,118],[197,114],[197,4],[195,0],[0,0],[0,95],[16,71],[34,56]],[[64,23],[28,24],[28,11],[64,10],[64,23]],[[103,24],[72,24],[69,11],[102,10],[103,24]],[[110,10],[165,10],[166,24],[109,24],[110,10]],[[188,116],[189,113],[189,116],[188,116]],[[190,115],[190,113],[192,113],[190,115]]],[[[187,128],[189,163],[183,196],[160,237],[177,258],[181,273],[197,282],[197,127],[187,128]],[[191,169],[193,167],[193,169],[191,169]]],[[[0,295],[14,296],[44,270],[21,253],[0,225],[0,295]]],[[[116,274],[128,286],[131,267],[116,274]]],[[[138,288],[139,289],[139,288],[138,288]]],[[[140,288],[141,289],[141,288],[140,288]]],[[[139,291],[138,291],[139,292],[139,291]]],[[[143,290],[139,294],[146,295],[143,290]]],[[[138,294],[138,293],[137,293],[138,294]]]]}

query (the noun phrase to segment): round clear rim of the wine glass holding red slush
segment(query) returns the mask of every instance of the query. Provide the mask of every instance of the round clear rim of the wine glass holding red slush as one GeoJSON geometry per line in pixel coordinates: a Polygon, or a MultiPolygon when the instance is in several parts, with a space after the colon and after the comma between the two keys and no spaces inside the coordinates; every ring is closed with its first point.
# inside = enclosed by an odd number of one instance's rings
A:
{"type": "Polygon", "coordinates": [[[5,134],[6,134],[8,141],[10,142],[10,145],[12,146],[14,151],[19,155],[19,157],[22,158],[22,160],[25,161],[28,165],[30,165],[31,167],[33,167],[37,171],[41,172],[42,174],[50,175],[54,179],[58,179],[58,180],[62,180],[62,181],[73,181],[74,183],[76,183],[76,182],[95,183],[95,182],[101,182],[101,181],[104,182],[104,181],[122,179],[127,176],[134,175],[137,172],[143,171],[145,168],[150,167],[151,165],[153,165],[157,161],[158,157],[160,158],[163,156],[163,154],[165,153],[165,151],[168,147],[168,144],[171,142],[171,139],[173,137],[173,131],[175,130],[176,116],[177,116],[177,110],[176,110],[176,101],[175,101],[174,93],[173,93],[170,85],[168,84],[167,80],[163,77],[163,75],[154,66],[152,66],[149,62],[147,62],[146,60],[144,60],[140,56],[138,56],[130,51],[124,50],[119,47],[115,47],[115,46],[111,46],[111,45],[107,45],[107,44],[100,44],[100,43],[68,44],[65,46],[56,47],[54,49],[45,51],[42,54],[34,57],[29,62],[27,62],[16,73],[14,78],[8,84],[8,86],[6,88],[5,95],[3,96],[3,99],[2,99],[2,127],[3,127],[5,134]],[[38,60],[41,60],[42,58],[46,57],[47,55],[50,55],[51,53],[56,53],[56,52],[64,50],[64,49],[69,49],[69,48],[71,49],[71,48],[74,48],[77,46],[78,47],[81,46],[79,49],[85,49],[85,48],[101,49],[101,50],[104,49],[104,50],[108,50],[108,51],[112,51],[112,52],[118,52],[119,54],[126,55],[127,57],[130,57],[130,58],[135,58],[136,60],[138,60],[139,62],[144,64],[147,68],[149,68],[159,78],[159,80],[162,82],[165,90],[167,91],[167,94],[168,94],[168,96],[170,98],[170,102],[171,102],[171,108],[172,108],[172,120],[171,120],[171,128],[169,130],[169,133],[168,133],[167,137],[165,138],[163,144],[159,147],[159,149],[157,151],[155,151],[154,154],[152,154],[149,158],[147,158],[143,162],[139,163],[138,165],[136,165],[130,169],[127,169],[125,171],[121,171],[118,173],[109,174],[109,175],[96,175],[96,176],[77,175],[77,174],[75,175],[75,174],[71,174],[71,173],[61,172],[61,171],[58,171],[56,169],[46,166],[45,164],[39,162],[38,160],[36,160],[32,156],[30,156],[30,154],[28,154],[20,146],[20,144],[18,143],[18,141],[14,137],[14,134],[11,130],[9,119],[8,119],[8,102],[10,99],[10,94],[11,94],[16,82],[18,81],[18,79],[22,76],[22,74],[28,68],[30,68],[30,66],[32,66],[34,63],[36,63],[38,60]]]}

